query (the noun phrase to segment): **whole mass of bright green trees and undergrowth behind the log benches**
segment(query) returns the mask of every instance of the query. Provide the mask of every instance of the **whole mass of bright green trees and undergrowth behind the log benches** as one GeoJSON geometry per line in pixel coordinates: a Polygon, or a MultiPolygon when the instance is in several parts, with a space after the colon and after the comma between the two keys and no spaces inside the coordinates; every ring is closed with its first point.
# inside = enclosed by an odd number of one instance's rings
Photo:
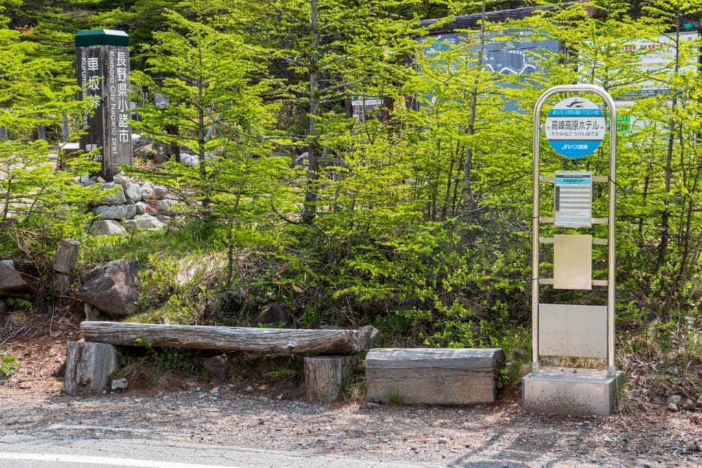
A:
{"type": "MultiPolygon", "coordinates": [[[[5,1],[0,252],[32,258],[40,286],[62,237],[83,242],[84,267],[135,258],[140,321],[239,324],[284,302],[305,327],[374,323],[388,345],[503,347],[515,375],[531,353],[529,109],[556,84],[596,83],[625,100],[658,83],[661,93],[618,109],[632,124],[618,138],[617,326],[627,356],[646,361],[661,388],[691,391],[702,353],[702,80],[699,40],[679,33],[702,3],[591,3],[595,15],[576,4],[484,24],[425,54],[418,18],[481,12],[483,2],[5,1]],[[83,228],[86,201],[100,195],[74,183],[90,167],[81,157],[56,167],[48,154],[61,114],[85,106],[74,100],[72,35],[120,26],[134,40],[133,89],[168,98],[146,102],[133,126],[199,164],[125,168],[187,204],[163,234],[96,239],[83,228]],[[632,45],[664,32],[670,67],[642,72],[645,51],[632,45]],[[538,51],[543,67],[528,80],[491,72],[477,53],[545,37],[564,51],[538,51]],[[351,95],[392,105],[357,121],[346,116],[351,95]]],[[[544,142],[541,154],[547,172],[607,166],[604,150],[564,161],[544,142]]],[[[601,215],[606,195],[595,191],[601,215]]],[[[604,251],[594,255],[604,274],[604,251]]],[[[602,299],[544,289],[546,300],[602,299]]],[[[180,358],[154,359],[170,368],[180,358]]]]}

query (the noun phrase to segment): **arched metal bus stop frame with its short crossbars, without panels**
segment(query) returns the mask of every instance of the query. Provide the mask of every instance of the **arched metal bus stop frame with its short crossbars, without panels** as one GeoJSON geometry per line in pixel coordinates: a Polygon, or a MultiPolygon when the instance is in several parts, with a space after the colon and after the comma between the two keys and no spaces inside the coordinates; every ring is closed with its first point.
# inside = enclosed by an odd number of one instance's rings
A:
{"type": "MultiPolygon", "coordinates": [[[[616,129],[617,129],[617,119],[616,119],[616,105],[614,100],[611,98],[609,93],[604,90],[604,88],[591,84],[577,84],[577,85],[563,85],[555,86],[545,91],[534,107],[534,173],[532,178],[532,195],[533,195],[533,211],[532,211],[532,286],[531,286],[531,349],[532,349],[532,359],[531,359],[531,372],[534,374],[539,373],[539,352],[540,352],[540,340],[539,331],[547,330],[548,327],[539,326],[539,287],[541,284],[553,284],[553,279],[541,278],[539,275],[539,246],[541,243],[552,243],[553,239],[541,238],[539,236],[539,229],[542,223],[555,222],[554,218],[541,217],[539,213],[539,195],[541,193],[541,183],[542,182],[553,182],[555,184],[555,176],[542,176],[540,174],[540,140],[541,131],[543,130],[541,126],[541,111],[546,101],[554,95],[559,93],[592,93],[600,96],[607,105],[609,109],[609,174],[607,175],[593,175],[592,182],[606,182],[609,189],[609,205],[608,205],[608,216],[607,218],[592,218],[591,224],[607,224],[607,239],[593,239],[592,242],[595,244],[607,244],[607,281],[602,280],[592,280],[592,286],[607,286],[607,375],[609,377],[615,377],[616,363],[614,360],[614,301],[615,301],[615,284],[614,284],[614,269],[615,269],[615,245],[614,245],[614,228],[615,228],[615,189],[616,189],[616,129]]],[[[545,309],[551,307],[550,305],[541,305],[545,309]]],[[[567,307],[567,306],[566,306],[567,307]]],[[[601,310],[601,306],[582,306],[581,311],[585,314],[588,313],[588,309],[593,310],[597,308],[601,310]]],[[[545,310],[545,312],[547,312],[545,310]]],[[[548,312],[550,309],[548,309],[548,312]]],[[[578,311],[580,312],[580,311],[578,311]]],[[[552,315],[552,314],[551,314],[552,315]]],[[[548,340],[545,340],[546,345],[548,340]]],[[[599,355],[596,352],[590,352],[590,355],[599,355]]]]}

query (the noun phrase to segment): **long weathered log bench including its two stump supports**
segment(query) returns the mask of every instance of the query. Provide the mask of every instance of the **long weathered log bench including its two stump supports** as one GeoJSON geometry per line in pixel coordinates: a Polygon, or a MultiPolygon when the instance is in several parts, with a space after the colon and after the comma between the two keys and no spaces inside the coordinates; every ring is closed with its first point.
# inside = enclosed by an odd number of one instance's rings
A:
{"type": "MultiPolygon", "coordinates": [[[[100,358],[95,356],[107,355],[98,345],[178,347],[303,355],[307,399],[322,403],[338,399],[349,367],[379,337],[378,330],[370,325],[359,330],[303,330],[105,321],[84,321],[81,333],[85,342],[69,342],[67,346],[65,390],[68,394],[81,390],[94,392],[107,384],[107,375],[88,372],[100,367],[95,361],[100,358]],[[74,362],[69,363],[69,358],[74,362]],[[81,365],[83,360],[89,360],[90,365],[81,365]],[[76,374],[74,369],[84,372],[76,374]],[[77,378],[81,381],[76,382],[77,378]]],[[[105,366],[111,363],[105,361],[105,366]]]]}

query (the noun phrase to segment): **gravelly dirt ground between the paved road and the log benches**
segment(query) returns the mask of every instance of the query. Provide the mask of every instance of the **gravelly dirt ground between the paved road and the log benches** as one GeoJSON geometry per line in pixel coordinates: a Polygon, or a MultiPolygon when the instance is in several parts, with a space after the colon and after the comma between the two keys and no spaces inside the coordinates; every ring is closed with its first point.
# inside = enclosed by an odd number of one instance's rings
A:
{"type": "Polygon", "coordinates": [[[124,391],[65,396],[55,375],[76,323],[57,321],[43,333],[18,333],[0,345],[21,366],[0,382],[0,431],[129,433],[455,467],[702,465],[701,415],[674,413],[663,403],[630,404],[610,417],[529,415],[508,389],[492,406],[378,406],[362,396],[316,405],[305,401],[299,377],[259,373],[208,382],[176,372],[152,380],[133,374],[124,391]]]}

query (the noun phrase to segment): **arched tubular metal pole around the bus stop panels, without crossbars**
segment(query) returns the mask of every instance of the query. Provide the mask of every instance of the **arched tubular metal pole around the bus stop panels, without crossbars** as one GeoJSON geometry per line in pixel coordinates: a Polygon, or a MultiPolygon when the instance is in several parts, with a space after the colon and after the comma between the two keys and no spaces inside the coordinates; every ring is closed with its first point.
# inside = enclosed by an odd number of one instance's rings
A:
{"type": "Polygon", "coordinates": [[[609,216],[607,222],[607,375],[616,375],[614,360],[614,225],[616,189],[616,105],[614,99],[601,86],[594,84],[574,84],[554,86],[545,91],[534,107],[534,174],[532,176],[531,213],[531,372],[538,373],[538,234],[539,234],[539,140],[541,139],[541,109],[548,98],[558,93],[594,93],[604,100],[609,109],[609,216]]]}

